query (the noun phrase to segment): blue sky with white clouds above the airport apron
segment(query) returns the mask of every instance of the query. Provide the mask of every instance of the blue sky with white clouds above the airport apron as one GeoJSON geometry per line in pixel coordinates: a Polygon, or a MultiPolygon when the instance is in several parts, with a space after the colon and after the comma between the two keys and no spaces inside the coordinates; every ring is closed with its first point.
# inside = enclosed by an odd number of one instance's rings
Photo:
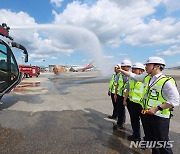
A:
{"type": "MultiPolygon", "coordinates": [[[[180,65],[180,0],[0,0],[0,23],[32,65],[180,65]]],[[[14,51],[18,63],[20,52],[14,51]]]]}

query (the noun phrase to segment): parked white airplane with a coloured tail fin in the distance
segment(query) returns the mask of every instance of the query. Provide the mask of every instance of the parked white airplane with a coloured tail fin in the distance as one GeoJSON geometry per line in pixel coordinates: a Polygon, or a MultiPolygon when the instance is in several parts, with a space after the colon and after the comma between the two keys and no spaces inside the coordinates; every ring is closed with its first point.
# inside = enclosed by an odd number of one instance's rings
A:
{"type": "Polygon", "coordinates": [[[94,67],[94,62],[91,61],[87,66],[71,66],[69,68],[70,72],[84,72],[88,69],[91,69],[94,67]]]}

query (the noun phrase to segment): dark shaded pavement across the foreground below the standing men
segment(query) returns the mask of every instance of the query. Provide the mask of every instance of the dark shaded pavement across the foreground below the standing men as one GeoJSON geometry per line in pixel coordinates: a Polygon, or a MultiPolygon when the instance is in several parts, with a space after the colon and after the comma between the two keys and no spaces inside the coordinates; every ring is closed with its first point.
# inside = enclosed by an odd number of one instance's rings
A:
{"type": "MultiPolygon", "coordinates": [[[[130,125],[122,131],[113,130],[112,122],[104,119],[106,114],[90,108],[34,114],[6,110],[1,114],[0,150],[4,153],[150,153],[129,148],[130,125]]],[[[175,141],[173,151],[178,154],[180,134],[170,132],[170,138],[175,141]]]]}

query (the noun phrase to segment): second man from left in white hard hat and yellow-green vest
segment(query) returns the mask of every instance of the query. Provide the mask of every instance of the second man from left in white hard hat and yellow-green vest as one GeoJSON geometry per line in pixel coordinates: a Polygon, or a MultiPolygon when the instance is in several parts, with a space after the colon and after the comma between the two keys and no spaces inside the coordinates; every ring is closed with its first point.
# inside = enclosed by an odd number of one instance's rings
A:
{"type": "MultiPolygon", "coordinates": [[[[131,61],[127,59],[123,60],[123,62],[121,63],[121,68],[125,71],[129,71],[131,68],[131,61]]],[[[125,123],[125,119],[126,119],[123,99],[124,99],[127,82],[128,82],[128,77],[120,73],[114,94],[114,100],[115,102],[117,102],[117,113],[118,113],[117,125],[115,125],[114,128],[118,130],[123,128],[123,124],[125,123]]]]}

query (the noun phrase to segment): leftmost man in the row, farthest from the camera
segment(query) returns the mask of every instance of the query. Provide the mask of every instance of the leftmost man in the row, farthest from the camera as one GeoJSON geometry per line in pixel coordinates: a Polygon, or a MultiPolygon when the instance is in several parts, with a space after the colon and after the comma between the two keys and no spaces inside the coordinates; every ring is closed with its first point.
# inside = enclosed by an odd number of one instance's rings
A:
{"type": "Polygon", "coordinates": [[[112,104],[113,104],[113,114],[108,116],[109,119],[116,119],[117,118],[117,103],[114,101],[114,93],[115,93],[115,84],[117,84],[119,79],[119,68],[121,67],[120,64],[117,64],[114,67],[114,73],[112,78],[109,82],[109,90],[108,95],[111,96],[112,104]]]}

